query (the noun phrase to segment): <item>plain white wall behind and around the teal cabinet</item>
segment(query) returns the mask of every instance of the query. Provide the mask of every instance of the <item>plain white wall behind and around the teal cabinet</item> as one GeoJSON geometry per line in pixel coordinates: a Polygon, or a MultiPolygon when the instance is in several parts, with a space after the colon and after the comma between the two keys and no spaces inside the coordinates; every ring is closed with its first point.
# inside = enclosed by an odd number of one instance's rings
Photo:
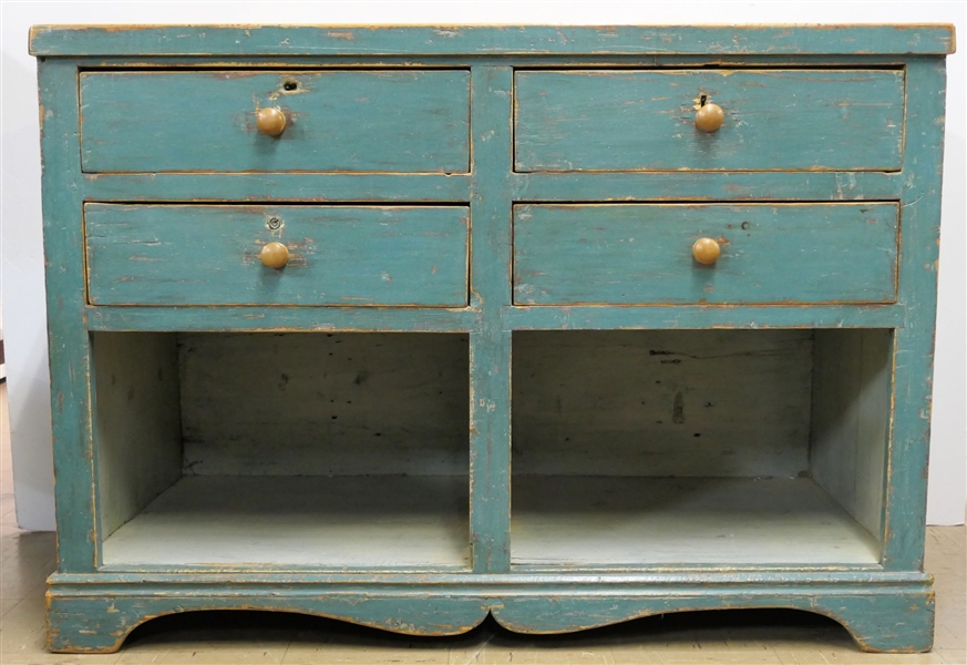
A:
{"type": "MultiPolygon", "coordinates": [[[[37,81],[27,53],[34,23],[955,23],[956,2],[27,2],[0,6],[2,20],[2,233],[0,303],[7,344],[17,519],[53,529],[50,387],[41,244],[37,81]]],[[[934,375],[927,519],[964,522],[965,464],[965,89],[964,52],[948,60],[940,294],[934,375]]],[[[8,490],[3,490],[8,491],[8,490]]]]}

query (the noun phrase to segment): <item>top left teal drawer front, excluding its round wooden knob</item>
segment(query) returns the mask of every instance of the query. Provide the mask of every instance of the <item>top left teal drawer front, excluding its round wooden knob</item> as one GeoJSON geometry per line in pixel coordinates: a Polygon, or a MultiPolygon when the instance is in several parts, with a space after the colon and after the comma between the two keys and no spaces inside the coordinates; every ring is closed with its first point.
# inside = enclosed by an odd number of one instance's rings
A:
{"type": "Polygon", "coordinates": [[[90,72],[81,119],[89,173],[470,168],[465,70],[90,72]]]}

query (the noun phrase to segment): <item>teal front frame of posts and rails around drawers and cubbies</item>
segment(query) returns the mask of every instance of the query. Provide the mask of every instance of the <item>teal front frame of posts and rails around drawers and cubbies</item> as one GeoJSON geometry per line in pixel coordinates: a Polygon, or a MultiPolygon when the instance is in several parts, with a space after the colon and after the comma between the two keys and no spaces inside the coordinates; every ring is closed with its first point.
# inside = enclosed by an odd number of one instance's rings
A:
{"type": "Polygon", "coordinates": [[[79,71],[113,68],[299,66],[308,57],[243,59],[165,55],[42,58],[44,154],[44,238],[48,320],[54,410],[54,466],[59,529],[59,571],[99,570],[96,453],[92,444],[89,330],[466,330],[471,334],[472,400],[471,539],[474,572],[510,570],[510,331],[514,329],[606,329],[673,327],[889,327],[895,328],[894,398],[883,528],[884,571],[923,567],[926,462],[936,307],[939,172],[943,144],[944,61],[917,55],[480,55],[327,58],[346,66],[423,65],[471,70],[472,165],[466,175],[223,174],[157,176],[85,174],[81,171],[79,71]],[[590,66],[649,63],[819,65],[902,65],[906,71],[907,147],[898,173],[763,174],[515,174],[512,170],[514,68],[590,66]],[[913,137],[916,137],[914,141],[913,137]],[[367,180],[370,178],[370,180],[367,180]],[[370,192],[372,184],[372,193],[370,192]],[[230,201],[249,184],[260,201],[342,203],[420,201],[464,203],[474,219],[471,238],[471,303],[463,309],[407,313],[353,308],[287,311],[272,319],[265,308],[97,307],[85,304],[82,207],[89,202],[230,201]],[[310,194],[306,194],[307,190],[310,194]],[[219,194],[224,192],[224,197],[219,194]],[[272,192],[279,197],[274,198],[272,192]],[[899,288],[894,305],[871,306],[703,306],[632,308],[515,307],[511,300],[511,214],[521,202],[897,201],[904,234],[899,288]],[[539,309],[539,310],[538,310],[539,309]],[[95,311],[96,310],[96,311],[95,311]],[[902,396],[902,398],[897,398],[902,396]],[[503,405],[503,406],[502,406],[503,405]]]}

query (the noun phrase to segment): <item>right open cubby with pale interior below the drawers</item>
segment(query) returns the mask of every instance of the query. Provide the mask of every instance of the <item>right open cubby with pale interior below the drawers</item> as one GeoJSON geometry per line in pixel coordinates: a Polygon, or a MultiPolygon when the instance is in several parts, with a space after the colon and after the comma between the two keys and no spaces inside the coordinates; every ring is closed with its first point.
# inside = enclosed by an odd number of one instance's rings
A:
{"type": "Polygon", "coordinates": [[[889,329],[518,331],[515,566],[875,566],[889,329]]]}

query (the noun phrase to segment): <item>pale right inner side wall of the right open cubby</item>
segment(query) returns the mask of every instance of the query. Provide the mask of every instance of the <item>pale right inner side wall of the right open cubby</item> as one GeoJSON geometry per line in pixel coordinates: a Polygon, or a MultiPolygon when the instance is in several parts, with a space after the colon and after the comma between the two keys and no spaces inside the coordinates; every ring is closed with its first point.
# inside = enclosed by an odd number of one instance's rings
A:
{"type": "Polygon", "coordinates": [[[889,427],[888,329],[817,330],[810,473],[879,536],[889,427]]]}

